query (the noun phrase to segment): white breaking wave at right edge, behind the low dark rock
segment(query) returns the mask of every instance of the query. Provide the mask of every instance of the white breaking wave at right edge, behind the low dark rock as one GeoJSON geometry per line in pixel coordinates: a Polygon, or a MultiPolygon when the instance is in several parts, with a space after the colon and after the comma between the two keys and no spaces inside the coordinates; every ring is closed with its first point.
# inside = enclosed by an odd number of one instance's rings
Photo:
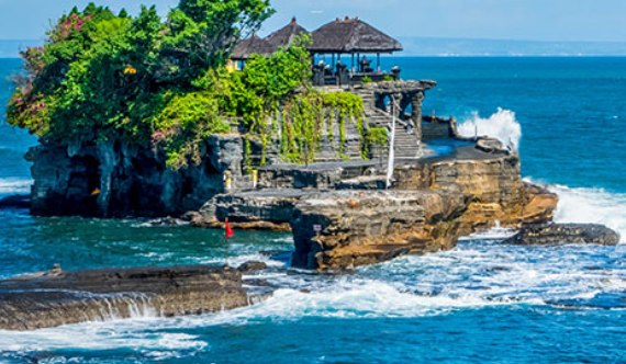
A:
{"type": "Polygon", "coordinates": [[[626,194],[563,185],[551,185],[549,190],[559,195],[557,223],[602,224],[619,232],[622,242],[626,242],[626,194]]]}

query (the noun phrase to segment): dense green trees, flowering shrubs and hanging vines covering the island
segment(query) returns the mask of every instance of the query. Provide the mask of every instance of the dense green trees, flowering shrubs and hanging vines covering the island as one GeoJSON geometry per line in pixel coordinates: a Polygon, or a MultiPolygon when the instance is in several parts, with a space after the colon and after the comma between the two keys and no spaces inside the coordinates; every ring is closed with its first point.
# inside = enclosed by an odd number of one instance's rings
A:
{"type": "Polygon", "coordinates": [[[174,169],[199,162],[200,141],[230,133],[230,121],[243,120],[247,140],[261,141],[261,162],[272,140],[286,159],[311,161],[324,125],[331,138],[338,126],[343,156],[347,120],[370,140],[360,98],[310,86],[305,37],[227,71],[236,39],[272,13],[269,0],[180,0],[166,19],[155,7],[136,18],[92,3],[75,8],[43,47],[22,52],[27,77],[8,104],[8,122],[51,139],[155,147],[174,169]]]}

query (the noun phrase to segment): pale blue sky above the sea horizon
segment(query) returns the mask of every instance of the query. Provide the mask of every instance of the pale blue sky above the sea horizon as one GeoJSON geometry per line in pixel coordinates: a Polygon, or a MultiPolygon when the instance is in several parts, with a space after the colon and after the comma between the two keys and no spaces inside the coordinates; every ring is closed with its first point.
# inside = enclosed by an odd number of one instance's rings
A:
{"type": "MultiPolygon", "coordinates": [[[[161,13],[178,0],[145,0],[161,13]]],[[[0,0],[0,39],[36,39],[52,19],[87,0],[0,0]]],[[[102,0],[134,12],[138,2],[102,0]]],[[[626,0],[273,0],[262,33],[292,15],[309,30],[359,15],[394,36],[626,42],[626,0]]]]}

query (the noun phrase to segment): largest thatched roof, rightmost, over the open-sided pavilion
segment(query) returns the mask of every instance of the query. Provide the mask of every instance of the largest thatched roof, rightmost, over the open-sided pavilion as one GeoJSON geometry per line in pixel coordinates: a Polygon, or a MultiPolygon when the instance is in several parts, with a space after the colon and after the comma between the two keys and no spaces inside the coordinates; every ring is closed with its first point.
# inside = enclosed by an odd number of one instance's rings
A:
{"type": "Polygon", "coordinates": [[[400,42],[368,23],[355,19],[328,23],[313,32],[312,53],[393,53],[402,50],[400,42]]]}

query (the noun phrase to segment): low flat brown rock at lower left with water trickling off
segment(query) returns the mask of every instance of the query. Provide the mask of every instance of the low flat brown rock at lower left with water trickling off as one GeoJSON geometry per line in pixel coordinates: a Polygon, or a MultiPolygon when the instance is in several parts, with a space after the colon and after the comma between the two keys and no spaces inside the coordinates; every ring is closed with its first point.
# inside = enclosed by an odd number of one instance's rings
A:
{"type": "Polygon", "coordinates": [[[194,265],[46,273],[0,281],[0,330],[247,306],[237,270],[194,265]]]}

